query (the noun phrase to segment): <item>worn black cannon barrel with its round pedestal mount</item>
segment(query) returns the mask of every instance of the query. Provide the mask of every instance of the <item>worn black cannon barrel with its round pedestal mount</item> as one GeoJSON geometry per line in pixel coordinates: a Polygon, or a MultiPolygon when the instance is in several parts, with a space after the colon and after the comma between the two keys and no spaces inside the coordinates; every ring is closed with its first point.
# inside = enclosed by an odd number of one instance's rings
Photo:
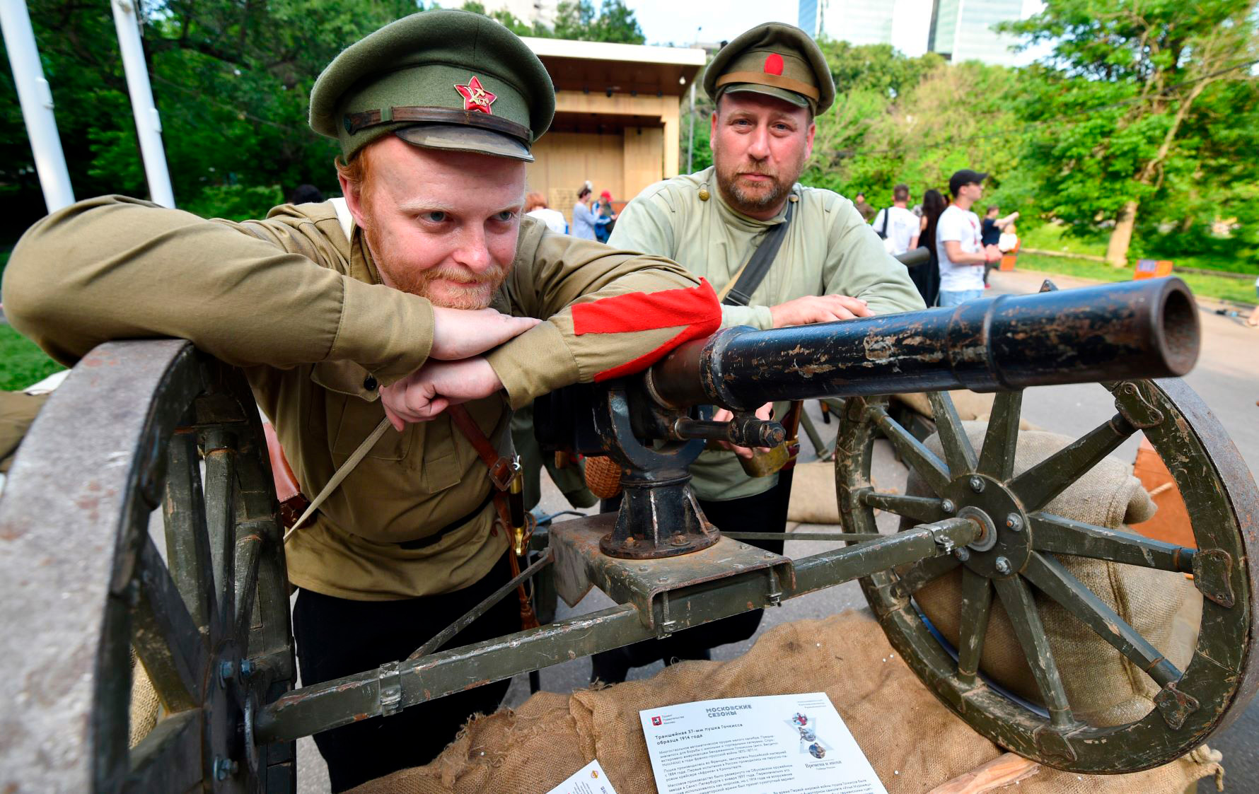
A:
{"type": "MultiPolygon", "coordinates": [[[[597,439],[624,469],[619,518],[602,549],[657,559],[716,542],[686,488],[686,469],[703,449],[699,439],[779,442],[781,425],[752,414],[767,401],[1178,376],[1197,350],[1197,310],[1178,278],[769,331],[726,328],[679,347],[640,383],[594,398],[596,433],[578,435],[597,439]],[[723,425],[689,417],[696,405],[720,405],[734,418],[723,425]]],[[[589,440],[584,452],[594,452],[589,440]]]]}

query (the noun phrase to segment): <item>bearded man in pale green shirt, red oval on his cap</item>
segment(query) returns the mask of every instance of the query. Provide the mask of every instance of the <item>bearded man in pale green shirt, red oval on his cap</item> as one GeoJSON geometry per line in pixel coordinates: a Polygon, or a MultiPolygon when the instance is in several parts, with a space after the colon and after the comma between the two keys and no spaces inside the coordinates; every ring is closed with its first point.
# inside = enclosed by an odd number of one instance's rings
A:
{"type": "MultiPolygon", "coordinates": [[[[608,243],[669,257],[723,292],[734,287],[771,230],[788,224],[759,284],[738,305],[728,296],[724,327],[774,328],[923,308],[905,267],[888,255],[851,201],[796,184],[812,152],[813,118],[835,99],[813,39],[792,25],[758,25],[725,45],[703,79],[716,104],[714,165],[643,190],[621,210],[608,243]]],[[[777,415],[786,408],[778,405],[777,415]]],[[[753,478],[734,452],[724,450],[704,452],[690,471],[704,512],[719,528],[786,528],[789,472],[753,478]]],[[[762,545],[783,549],[781,541],[762,545]]],[[[759,620],[759,612],[747,613],[598,654],[593,677],[612,683],[653,659],[708,658],[710,647],[750,637],[759,620]]]]}

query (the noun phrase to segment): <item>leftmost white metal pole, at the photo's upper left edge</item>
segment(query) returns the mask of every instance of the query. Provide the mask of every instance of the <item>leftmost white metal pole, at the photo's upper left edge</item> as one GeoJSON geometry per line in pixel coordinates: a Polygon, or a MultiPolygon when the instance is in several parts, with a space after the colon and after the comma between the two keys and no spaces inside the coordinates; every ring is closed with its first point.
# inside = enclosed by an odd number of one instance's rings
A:
{"type": "Polygon", "coordinates": [[[26,122],[26,137],[35,156],[35,172],[44,191],[44,205],[49,213],[74,204],[71,175],[65,170],[62,138],[57,135],[57,117],[53,116],[53,92],[44,79],[44,67],[35,49],[35,33],[30,28],[30,14],[25,0],[0,0],[0,28],[4,30],[13,82],[18,87],[21,118],[26,122]]]}

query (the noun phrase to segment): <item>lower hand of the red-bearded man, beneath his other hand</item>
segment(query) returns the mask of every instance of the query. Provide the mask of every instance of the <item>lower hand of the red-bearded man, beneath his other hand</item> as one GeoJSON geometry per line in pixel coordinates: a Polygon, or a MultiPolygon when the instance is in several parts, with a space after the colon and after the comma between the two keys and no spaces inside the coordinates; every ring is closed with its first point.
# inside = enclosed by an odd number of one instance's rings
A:
{"type": "Polygon", "coordinates": [[[395,430],[428,422],[451,405],[480,400],[502,389],[482,356],[462,361],[429,361],[410,375],[380,388],[380,404],[395,430]]]}

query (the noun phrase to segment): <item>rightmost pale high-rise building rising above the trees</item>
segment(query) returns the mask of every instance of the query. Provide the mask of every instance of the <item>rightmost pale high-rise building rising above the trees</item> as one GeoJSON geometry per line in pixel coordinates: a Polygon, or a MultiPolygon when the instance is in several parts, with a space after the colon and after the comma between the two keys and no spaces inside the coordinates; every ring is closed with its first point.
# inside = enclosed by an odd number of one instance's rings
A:
{"type": "Polygon", "coordinates": [[[1010,52],[1017,38],[992,26],[1021,19],[1022,10],[1022,0],[935,0],[928,49],[953,62],[1013,65],[1021,60],[1010,52]]]}

